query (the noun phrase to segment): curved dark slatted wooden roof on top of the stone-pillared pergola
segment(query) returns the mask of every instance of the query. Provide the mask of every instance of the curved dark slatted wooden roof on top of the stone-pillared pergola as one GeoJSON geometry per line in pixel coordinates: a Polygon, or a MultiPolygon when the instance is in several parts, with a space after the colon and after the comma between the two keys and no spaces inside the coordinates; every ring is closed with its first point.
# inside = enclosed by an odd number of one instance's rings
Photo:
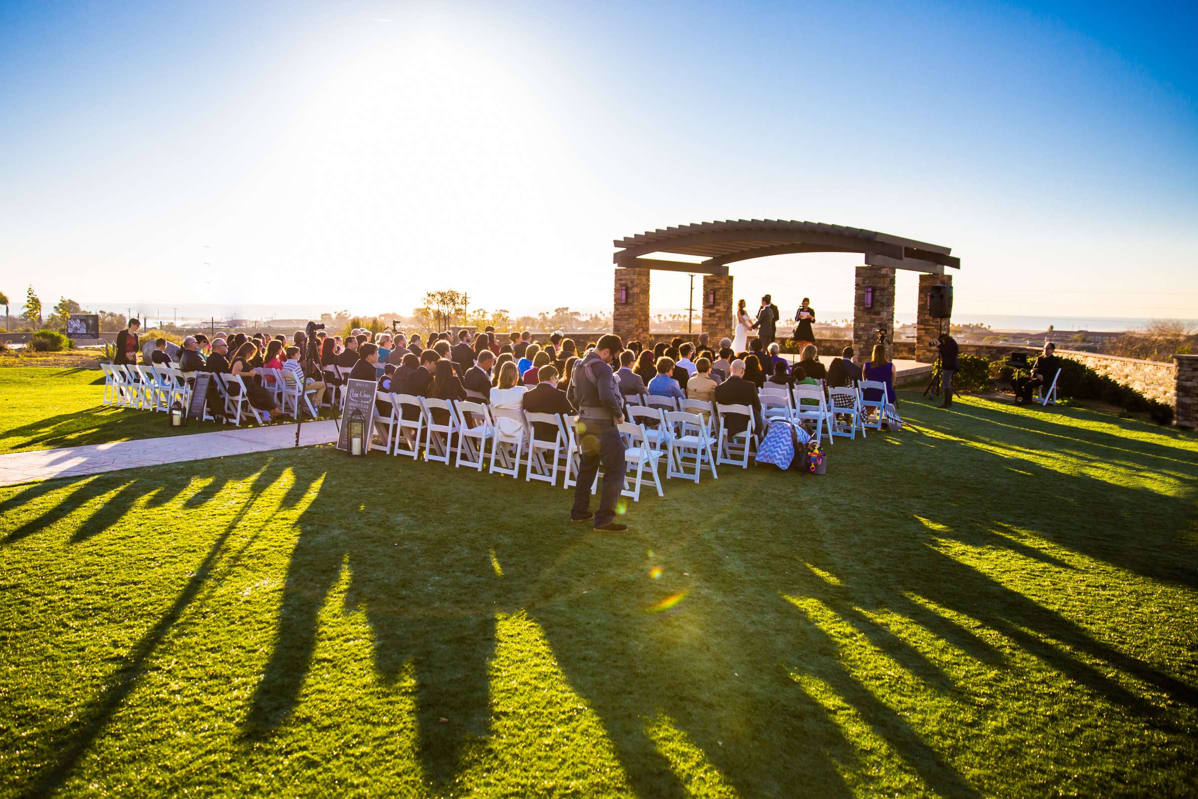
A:
{"type": "Polygon", "coordinates": [[[943,274],[961,268],[949,247],[893,236],[876,230],[787,219],[727,219],[649,230],[618,238],[618,266],[727,274],[728,264],[767,255],[793,253],[861,253],[870,266],[943,274]],[[706,258],[700,264],[642,258],[673,253],[706,258]]]}

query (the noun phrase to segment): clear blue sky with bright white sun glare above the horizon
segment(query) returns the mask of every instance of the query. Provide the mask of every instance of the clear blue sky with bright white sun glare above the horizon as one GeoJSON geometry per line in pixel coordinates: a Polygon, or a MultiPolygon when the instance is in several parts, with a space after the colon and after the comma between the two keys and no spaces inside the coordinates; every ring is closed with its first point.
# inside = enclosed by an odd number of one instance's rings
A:
{"type": "MultiPolygon", "coordinates": [[[[951,246],[958,320],[1198,317],[1194,23],[1151,4],[4,2],[0,289],[598,309],[612,238],[794,218],[951,246]]],[[[736,293],[847,311],[855,260],[749,261],[736,293]]],[[[659,276],[654,305],[684,305],[685,276],[659,276]]]]}

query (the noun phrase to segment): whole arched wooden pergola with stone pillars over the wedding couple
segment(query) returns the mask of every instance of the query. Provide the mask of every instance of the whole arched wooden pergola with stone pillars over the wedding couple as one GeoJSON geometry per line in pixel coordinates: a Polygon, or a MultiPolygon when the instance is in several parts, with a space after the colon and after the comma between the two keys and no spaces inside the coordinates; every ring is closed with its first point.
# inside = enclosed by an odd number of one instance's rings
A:
{"type": "MultiPolygon", "coordinates": [[[[894,333],[894,282],[897,270],[920,272],[920,328],[936,325],[927,316],[927,289],[951,284],[945,268],[961,268],[961,259],[942,244],[906,238],[861,228],[821,222],[738,219],[701,222],[664,228],[612,242],[617,252],[615,328],[625,338],[648,338],[649,273],[653,270],[703,276],[703,329],[713,339],[728,335],[734,298],[728,264],[768,255],[795,253],[860,253],[857,267],[853,317],[854,346],[864,350],[879,326],[894,333]],[[649,255],[673,254],[702,258],[700,262],[649,255]]],[[[780,287],[781,289],[781,287],[780,287]]],[[[752,298],[756,299],[756,298],[752,298]]],[[[756,303],[751,305],[756,310],[756,303]]],[[[922,338],[922,337],[920,337],[922,338]]],[[[919,353],[918,353],[919,355],[919,353]]],[[[924,353],[928,355],[930,353],[924,353]]],[[[922,358],[921,358],[922,359],[922,358]]]]}

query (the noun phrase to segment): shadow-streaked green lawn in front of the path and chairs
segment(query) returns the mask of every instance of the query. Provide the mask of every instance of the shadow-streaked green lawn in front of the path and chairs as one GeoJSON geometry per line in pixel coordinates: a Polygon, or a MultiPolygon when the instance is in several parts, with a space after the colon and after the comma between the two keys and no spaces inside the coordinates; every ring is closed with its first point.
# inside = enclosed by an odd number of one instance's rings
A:
{"type": "Polygon", "coordinates": [[[1198,441],[914,397],[618,535],[328,448],[2,489],[0,792],[1191,794],[1198,441]]]}

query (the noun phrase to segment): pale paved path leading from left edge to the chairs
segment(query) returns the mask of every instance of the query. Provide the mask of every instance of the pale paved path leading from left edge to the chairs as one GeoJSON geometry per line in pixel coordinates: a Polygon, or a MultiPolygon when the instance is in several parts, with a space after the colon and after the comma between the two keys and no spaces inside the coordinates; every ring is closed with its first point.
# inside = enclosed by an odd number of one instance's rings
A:
{"type": "MultiPolygon", "coordinates": [[[[300,432],[300,444],[304,447],[335,441],[337,426],[332,419],[305,422],[300,432]]],[[[294,447],[295,442],[296,426],[279,424],[268,428],[231,428],[168,438],[139,438],[87,447],[7,453],[0,455],[0,485],[285,449],[294,447]]]]}

